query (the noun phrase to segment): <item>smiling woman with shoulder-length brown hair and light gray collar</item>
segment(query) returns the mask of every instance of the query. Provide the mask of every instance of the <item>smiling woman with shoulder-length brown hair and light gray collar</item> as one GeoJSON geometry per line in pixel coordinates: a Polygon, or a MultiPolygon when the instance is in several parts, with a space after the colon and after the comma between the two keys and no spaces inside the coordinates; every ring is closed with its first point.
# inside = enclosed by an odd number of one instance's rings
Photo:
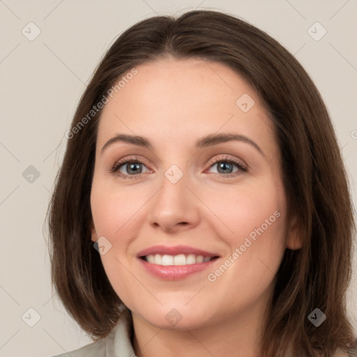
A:
{"type": "Polygon", "coordinates": [[[353,356],[346,173],[273,38],[214,11],[139,22],[66,137],[52,279],[96,340],[70,356],[353,356]]]}

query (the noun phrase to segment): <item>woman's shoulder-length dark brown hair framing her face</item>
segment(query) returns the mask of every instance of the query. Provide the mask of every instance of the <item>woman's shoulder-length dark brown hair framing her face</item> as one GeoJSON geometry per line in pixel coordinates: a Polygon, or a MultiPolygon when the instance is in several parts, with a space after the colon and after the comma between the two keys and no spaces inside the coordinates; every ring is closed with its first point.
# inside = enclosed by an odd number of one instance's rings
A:
{"type": "MultiPolygon", "coordinates": [[[[355,346],[347,317],[355,232],[347,174],[328,112],[305,70],[277,41],[234,16],[194,10],[178,18],[143,20],[116,39],[84,92],[75,128],[102,96],[135,66],[165,56],[217,61],[259,93],[278,136],[288,218],[297,215],[303,247],[286,250],[265,322],[264,356],[333,356],[355,346]],[[307,316],[326,314],[319,328],[307,316]]],[[[68,139],[48,210],[52,282],[61,301],[94,340],[120,318],[91,241],[91,181],[99,111],[68,139]]]]}

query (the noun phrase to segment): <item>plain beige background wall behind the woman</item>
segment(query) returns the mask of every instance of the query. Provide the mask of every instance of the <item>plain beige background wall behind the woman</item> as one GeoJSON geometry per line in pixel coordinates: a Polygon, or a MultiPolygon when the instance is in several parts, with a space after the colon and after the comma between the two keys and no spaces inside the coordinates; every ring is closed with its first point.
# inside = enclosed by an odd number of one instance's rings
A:
{"type": "MultiPolygon", "coordinates": [[[[356,0],[0,1],[0,356],[53,356],[91,342],[52,296],[43,234],[64,134],[119,33],[195,8],[248,20],[301,62],[331,114],[356,206],[356,0]]],[[[348,306],[357,329],[356,277],[355,268],[348,306]]]]}

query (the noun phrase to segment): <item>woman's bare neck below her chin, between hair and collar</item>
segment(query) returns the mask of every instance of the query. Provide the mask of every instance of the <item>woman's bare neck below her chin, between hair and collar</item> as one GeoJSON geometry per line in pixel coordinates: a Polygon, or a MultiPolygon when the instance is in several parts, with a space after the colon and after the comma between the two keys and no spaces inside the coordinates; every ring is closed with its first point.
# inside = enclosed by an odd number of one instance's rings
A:
{"type": "Polygon", "coordinates": [[[256,306],[200,328],[167,330],[133,313],[133,347],[137,357],[261,357],[263,316],[256,306]]]}

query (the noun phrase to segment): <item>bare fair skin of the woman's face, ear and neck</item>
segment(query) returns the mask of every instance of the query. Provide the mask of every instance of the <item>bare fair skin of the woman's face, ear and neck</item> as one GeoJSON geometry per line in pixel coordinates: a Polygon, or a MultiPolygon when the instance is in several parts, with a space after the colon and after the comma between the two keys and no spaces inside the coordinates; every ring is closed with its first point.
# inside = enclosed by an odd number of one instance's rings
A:
{"type": "Polygon", "coordinates": [[[105,236],[112,244],[102,264],[132,311],[135,354],[261,356],[261,324],[275,274],[284,250],[301,248],[296,220],[287,222],[280,152],[268,112],[252,87],[221,63],[167,58],[136,68],[137,75],[103,109],[91,189],[92,240],[105,236]],[[248,112],[236,105],[243,93],[255,101],[248,112]],[[199,137],[217,132],[245,135],[262,153],[238,141],[195,148],[199,137]],[[119,133],[147,137],[153,149],[116,142],[102,151],[119,133]],[[129,165],[110,172],[130,155],[143,162],[142,174],[124,179],[129,165]],[[218,171],[214,161],[225,162],[226,156],[248,171],[235,165],[228,174],[218,171]],[[165,177],[172,165],[183,173],[176,183],[165,177]],[[208,273],[275,211],[280,217],[209,281],[208,273]],[[220,259],[208,270],[165,281],[147,273],[136,257],[158,244],[190,245],[220,259]],[[165,318],[173,308],[182,317],[176,326],[165,318]]]}

